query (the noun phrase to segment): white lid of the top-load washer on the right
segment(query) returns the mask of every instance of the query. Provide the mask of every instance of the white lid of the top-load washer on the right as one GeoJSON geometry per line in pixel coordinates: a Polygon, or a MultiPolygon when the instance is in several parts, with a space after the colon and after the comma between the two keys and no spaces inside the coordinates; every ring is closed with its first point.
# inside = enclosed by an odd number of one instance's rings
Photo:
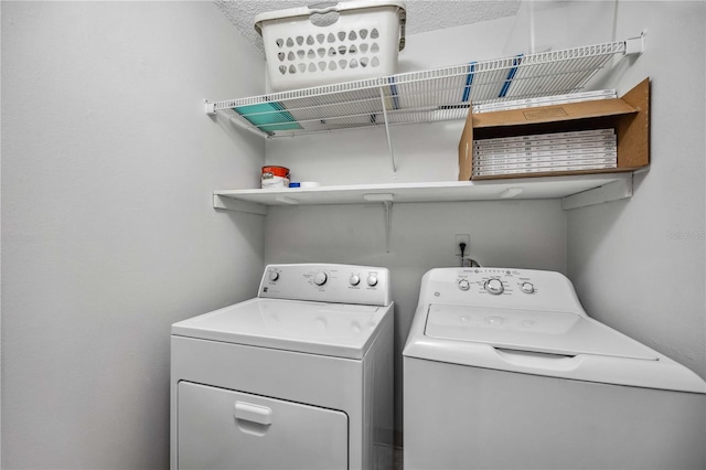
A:
{"type": "Polygon", "coordinates": [[[650,348],[610,327],[569,312],[431,305],[425,335],[567,356],[659,359],[650,348]]]}

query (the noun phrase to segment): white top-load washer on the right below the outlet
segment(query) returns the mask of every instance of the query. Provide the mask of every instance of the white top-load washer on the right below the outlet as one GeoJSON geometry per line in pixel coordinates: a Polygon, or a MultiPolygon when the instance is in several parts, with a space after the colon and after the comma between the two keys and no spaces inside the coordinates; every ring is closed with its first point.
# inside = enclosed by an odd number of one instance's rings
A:
{"type": "Polygon", "coordinates": [[[706,383],[587,317],[558,273],[428,271],[405,469],[703,469],[706,383]]]}

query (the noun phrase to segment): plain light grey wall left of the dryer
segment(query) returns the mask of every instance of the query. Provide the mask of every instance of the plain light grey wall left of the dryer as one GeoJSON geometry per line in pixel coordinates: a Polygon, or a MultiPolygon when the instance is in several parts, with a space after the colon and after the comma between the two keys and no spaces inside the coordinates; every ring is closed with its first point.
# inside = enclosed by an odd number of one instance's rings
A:
{"type": "Polygon", "coordinates": [[[167,468],[170,324],[247,297],[264,220],[212,209],[264,143],[211,2],[1,2],[2,467],[167,468]]]}

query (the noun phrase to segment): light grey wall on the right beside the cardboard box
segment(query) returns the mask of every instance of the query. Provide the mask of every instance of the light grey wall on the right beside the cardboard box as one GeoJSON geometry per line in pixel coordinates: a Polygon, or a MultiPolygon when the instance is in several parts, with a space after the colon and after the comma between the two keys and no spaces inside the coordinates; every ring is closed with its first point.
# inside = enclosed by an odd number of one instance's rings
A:
{"type": "Polygon", "coordinates": [[[706,377],[706,3],[620,2],[645,52],[612,77],[651,78],[651,167],[631,200],[568,214],[568,271],[586,309],[706,377]]]}

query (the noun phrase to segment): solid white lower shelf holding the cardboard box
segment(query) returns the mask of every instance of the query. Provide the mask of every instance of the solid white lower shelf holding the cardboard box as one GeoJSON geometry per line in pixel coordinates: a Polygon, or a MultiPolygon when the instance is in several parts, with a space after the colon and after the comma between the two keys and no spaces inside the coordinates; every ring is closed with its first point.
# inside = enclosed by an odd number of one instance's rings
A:
{"type": "Polygon", "coordinates": [[[214,207],[266,214],[267,206],[563,199],[576,209],[632,195],[632,173],[494,181],[353,184],[280,190],[214,191],[214,207]]]}

